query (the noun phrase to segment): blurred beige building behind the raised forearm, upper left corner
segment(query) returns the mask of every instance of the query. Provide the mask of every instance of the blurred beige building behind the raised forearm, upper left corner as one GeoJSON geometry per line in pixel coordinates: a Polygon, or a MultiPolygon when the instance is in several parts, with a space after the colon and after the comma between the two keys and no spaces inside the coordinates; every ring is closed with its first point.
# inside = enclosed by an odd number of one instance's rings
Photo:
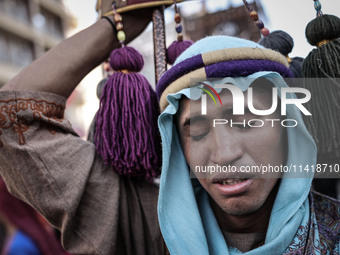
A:
{"type": "Polygon", "coordinates": [[[0,0],[0,86],[72,28],[61,0],[0,0]]]}

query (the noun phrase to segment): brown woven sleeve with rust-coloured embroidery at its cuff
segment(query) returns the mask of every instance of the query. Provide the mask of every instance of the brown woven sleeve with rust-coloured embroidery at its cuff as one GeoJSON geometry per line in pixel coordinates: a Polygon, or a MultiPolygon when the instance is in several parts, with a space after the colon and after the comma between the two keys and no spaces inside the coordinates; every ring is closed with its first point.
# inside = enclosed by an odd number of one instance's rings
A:
{"type": "Polygon", "coordinates": [[[44,92],[0,92],[0,174],[13,195],[62,231],[70,253],[113,254],[120,178],[63,118],[65,102],[44,92]]]}

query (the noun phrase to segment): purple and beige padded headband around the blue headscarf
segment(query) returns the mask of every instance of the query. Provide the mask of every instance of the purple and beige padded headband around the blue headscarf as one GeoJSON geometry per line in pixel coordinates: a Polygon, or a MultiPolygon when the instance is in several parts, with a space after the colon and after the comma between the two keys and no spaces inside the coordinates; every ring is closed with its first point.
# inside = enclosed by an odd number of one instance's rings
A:
{"type": "Polygon", "coordinates": [[[260,47],[219,49],[186,58],[175,63],[157,84],[156,92],[161,112],[169,104],[167,95],[196,85],[190,82],[192,78],[204,80],[245,77],[260,71],[272,71],[281,74],[282,77],[293,77],[288,66],[283,55],[260,47]]]}

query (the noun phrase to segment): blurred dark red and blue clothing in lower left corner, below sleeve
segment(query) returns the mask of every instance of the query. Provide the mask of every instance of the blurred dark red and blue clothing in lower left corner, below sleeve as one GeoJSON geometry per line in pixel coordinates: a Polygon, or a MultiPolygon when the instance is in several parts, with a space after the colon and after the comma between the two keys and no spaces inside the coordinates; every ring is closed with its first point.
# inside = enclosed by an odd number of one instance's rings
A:
{"type": "Polygon", "coordinates": [[[0,180],[1,255],[67,255],[58,232],[31,206],[12,196],[0,180]]]}

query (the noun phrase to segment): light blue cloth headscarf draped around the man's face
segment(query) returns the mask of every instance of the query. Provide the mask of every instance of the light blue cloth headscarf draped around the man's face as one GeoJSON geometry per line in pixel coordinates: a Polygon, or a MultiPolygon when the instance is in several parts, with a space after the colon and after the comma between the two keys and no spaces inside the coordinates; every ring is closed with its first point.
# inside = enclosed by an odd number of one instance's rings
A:
{"type": "MultiPolygon", "coordinates": [[[[195,54],[226,47],[228,37],[210,37],[184,52],[177,62],[195,54]]],[[[246,41],[248,42],[248,41],[246,41]]],[[[244,47],[254,47],[253,42],[244,47]]],[[[237,45],[240,47],[240,45],[237,45]]],[[[228,46],[229,47],[229,46],[228,46]]],[[[256,47],[261,47],[257,46],[256,47]]],[[[248,78],[224,78],[217,83],[232,83],[245,91],[254,79],[266,78],[278,88],[287,87],[283,78],[274,72],[257,72],[248,78]]],[[[280,93],[279,93],[280,94],[280,93]]],[[[235,254],[227,247],[223,234],[210,207],[208,195],[196,179],[191,179],[184,158],[173,117],[179,99],[191,99],[190,89],[167,96],[169,105],[159,117],[162,137],[163,166],[160,180],[158,217],[162,235],[172,255],[180,254],[235,254]]],[[[309,135],[297,108],[288,106],[287,117],[298,125],[287,129],[287,165],[312,165],[316,162],[316,146],[309,135]]],[[[308,194],[313,174],[307,178],[283,178],[272,209],[265,244],[246,254],[282,254],[294,238],[300,225],[309,219],[308,194]]]]}

